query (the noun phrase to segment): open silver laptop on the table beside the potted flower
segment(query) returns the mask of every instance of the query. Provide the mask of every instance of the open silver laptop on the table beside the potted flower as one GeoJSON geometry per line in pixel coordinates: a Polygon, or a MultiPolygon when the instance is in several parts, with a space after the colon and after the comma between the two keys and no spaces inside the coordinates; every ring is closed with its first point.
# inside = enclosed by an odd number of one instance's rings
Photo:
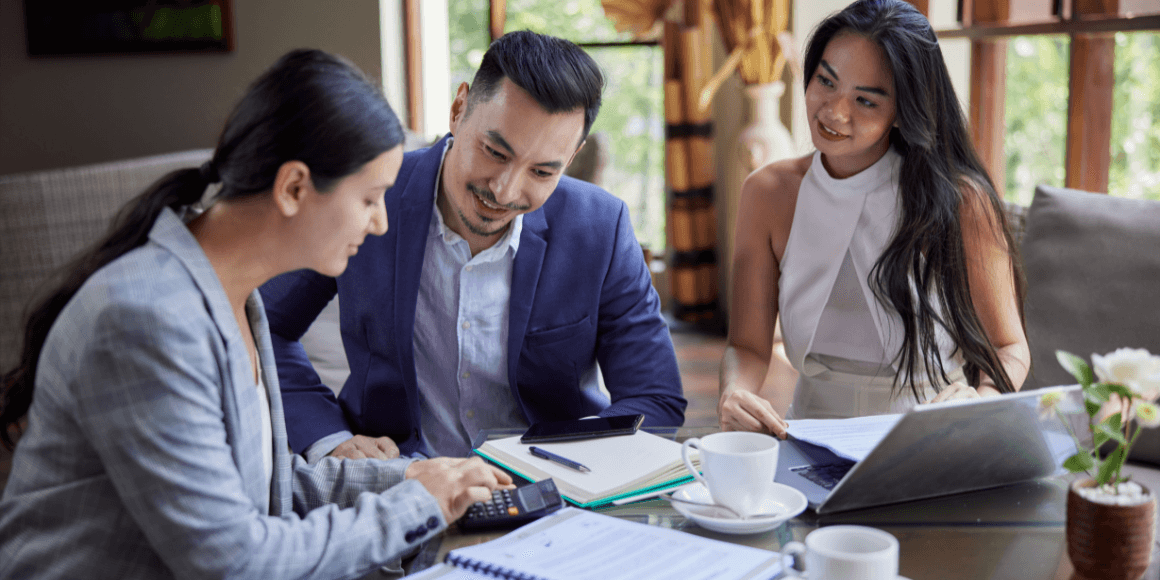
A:
{"type": "MultiPolygon", "coordinates": [[[[1081,397],[1079,385],[1052,390],[1081,397]]],[[[1060,473],[1075,443],[1058,415],[1041,419],[1046,391],[920,405],[860,462],[790,437],[782,442],[776,481],[829,514],[1060,473]]]]}

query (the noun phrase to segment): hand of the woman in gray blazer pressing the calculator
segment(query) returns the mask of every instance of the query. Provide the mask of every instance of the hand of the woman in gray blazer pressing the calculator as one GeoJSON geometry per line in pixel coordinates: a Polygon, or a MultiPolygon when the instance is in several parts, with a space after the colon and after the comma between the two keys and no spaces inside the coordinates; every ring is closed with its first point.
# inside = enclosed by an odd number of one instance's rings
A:
{"type": "Polygon", "coordinates": [[[407,479],[416,479],[438,500],[448,523],[458,520],[477,501],[492,499],[495,490],[512,490],[512,477],[479,457],[436,457],[407,466],[407,479]]]}

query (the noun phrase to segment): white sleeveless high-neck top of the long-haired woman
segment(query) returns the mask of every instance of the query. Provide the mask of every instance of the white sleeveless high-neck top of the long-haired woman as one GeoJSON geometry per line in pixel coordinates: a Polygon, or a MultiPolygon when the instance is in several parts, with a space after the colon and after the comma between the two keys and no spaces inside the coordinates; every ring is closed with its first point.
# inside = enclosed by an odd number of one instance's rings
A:
{"type": "MultiPolygon", "coordinates": [[[[899,219],[901,157],[890,148],[865,171],[835,179],[821,153],[802,180],[781,262],[778,311],[785,354],[799,372],[793,419],[899,413],[915,405],[908,390],[891,397],[901,319],[880,304],[868,280],[899,219]]],[[[954,342],[940,329],[951,380],[954,342]]],[[[927,385],[923,400],[934,397],[927,385]]]]}

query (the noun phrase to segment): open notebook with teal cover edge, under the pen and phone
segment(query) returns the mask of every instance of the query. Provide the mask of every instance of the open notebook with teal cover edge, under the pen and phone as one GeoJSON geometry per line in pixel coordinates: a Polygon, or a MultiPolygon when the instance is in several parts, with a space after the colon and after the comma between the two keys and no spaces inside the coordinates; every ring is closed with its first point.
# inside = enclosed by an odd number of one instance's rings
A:
{"type": "MultiPolygon", "coordinates": [[[[560,495],[580,507],[595,507],[629,495],[684,485],[693,474],[681,461],[681,444],[638,430],[632,435],[600,437],[536,447],[587,466],[581,472],[531,455],[520,437],[488,441],[476,452],[531,481],[552,478],[560,495]]],[[[696,450],[690,450],[698,466],[696,450]]]]}

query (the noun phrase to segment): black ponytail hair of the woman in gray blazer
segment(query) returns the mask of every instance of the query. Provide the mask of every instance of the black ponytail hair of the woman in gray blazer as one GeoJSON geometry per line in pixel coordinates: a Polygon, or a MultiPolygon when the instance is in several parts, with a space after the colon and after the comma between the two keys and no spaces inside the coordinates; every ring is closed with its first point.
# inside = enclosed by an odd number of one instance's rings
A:
{"type": "Polygon", "coordinates": [[[278,59],[230,114],[213,157],[165,175],[129,202],[104,238],[73,259],[61,270],[63,281],[34,304],[20,362],[0,383],[0,442],[15,447],[9,427],[19,426],[32,404],[41,349],[60,311],[93,273],[144,245],[165,208],[193,205],[218,182],[216,200],[264,194],[291,160],[306,164],[314,187],[325,193],[403,139],[382,89],[354,64],[320,50],[295,50],[278,59]]]}

